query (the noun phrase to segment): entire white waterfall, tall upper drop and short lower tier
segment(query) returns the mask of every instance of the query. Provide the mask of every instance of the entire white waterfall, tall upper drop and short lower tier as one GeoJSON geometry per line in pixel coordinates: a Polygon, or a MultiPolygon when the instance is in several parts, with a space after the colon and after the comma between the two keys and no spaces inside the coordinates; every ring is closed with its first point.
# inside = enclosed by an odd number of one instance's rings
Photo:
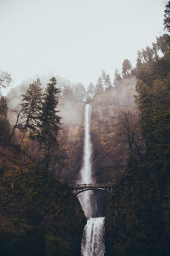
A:
{"type": "MultiPolygon", "coordinates": [[[[92,155],[92,145],[90,143],[90,119],[91,106],[90,104],[86,104],[84,114],[84,165],[80,171],[81,184],[89,184],[95,182],[95,180],[92,179],[92,166],[90,161],[90,157],[92,155]]],[[[78,199],[80,200],[84,214],[86,218],[88,218],[82,237],[82,256],[103,256],[105,253],[105,218],[91,218],[92,212],[94,210],[94,205],[92,205],[92,195],[92,190],[88,190],[78,195],[78,199]]]]}

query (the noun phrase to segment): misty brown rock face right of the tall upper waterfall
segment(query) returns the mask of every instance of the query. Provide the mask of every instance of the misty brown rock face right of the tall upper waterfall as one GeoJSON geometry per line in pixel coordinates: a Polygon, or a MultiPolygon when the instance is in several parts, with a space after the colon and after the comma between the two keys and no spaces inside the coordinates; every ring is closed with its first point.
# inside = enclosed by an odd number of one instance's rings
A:
{"type": "Polygon", "coordinates": [[[120,111],[135,106],[135,77],[124,79],[99,94],[92,102],[90,136],[92,141],[92,168],[97,182],[117,183],[126,167],[126,141],[120,137],[120,111]]]}

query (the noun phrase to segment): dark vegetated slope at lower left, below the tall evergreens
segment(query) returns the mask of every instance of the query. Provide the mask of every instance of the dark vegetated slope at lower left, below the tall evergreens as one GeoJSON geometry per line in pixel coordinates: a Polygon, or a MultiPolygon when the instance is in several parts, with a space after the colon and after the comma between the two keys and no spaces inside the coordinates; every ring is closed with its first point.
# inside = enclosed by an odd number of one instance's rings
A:
{"type": "Polygon", "coordinates": [[[0,146],[0,254],[80,255],[78,199],[13,146],[0,146]]]}

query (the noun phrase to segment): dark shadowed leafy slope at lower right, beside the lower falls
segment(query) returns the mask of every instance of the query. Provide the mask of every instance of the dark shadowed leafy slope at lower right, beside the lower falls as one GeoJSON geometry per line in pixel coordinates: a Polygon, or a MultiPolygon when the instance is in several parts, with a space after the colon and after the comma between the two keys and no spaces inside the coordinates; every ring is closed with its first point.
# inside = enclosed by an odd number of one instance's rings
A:
{"type": "Polygon", "coordinates": [[[128,171],[107,205],[106,255],[169,255],[169,168],[128,171]]]}

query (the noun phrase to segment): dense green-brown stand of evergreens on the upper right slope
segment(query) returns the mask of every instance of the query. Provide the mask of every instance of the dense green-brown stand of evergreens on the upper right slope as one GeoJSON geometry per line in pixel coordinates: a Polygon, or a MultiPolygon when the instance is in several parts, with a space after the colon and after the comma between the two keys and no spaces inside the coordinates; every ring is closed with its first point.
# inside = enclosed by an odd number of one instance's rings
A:
{"type": "Polygon", "coordinates": [[[164,56],[149,57],[146,51],[146,59],[137,74],[138,95],[135,96],[135,101],[140,111],[141,128],[148,156],[153,160],[166,162],[169,158],[170,113],[170,51],[167,47],[167,35],[157,38],[156,44],[164,56]]]}

